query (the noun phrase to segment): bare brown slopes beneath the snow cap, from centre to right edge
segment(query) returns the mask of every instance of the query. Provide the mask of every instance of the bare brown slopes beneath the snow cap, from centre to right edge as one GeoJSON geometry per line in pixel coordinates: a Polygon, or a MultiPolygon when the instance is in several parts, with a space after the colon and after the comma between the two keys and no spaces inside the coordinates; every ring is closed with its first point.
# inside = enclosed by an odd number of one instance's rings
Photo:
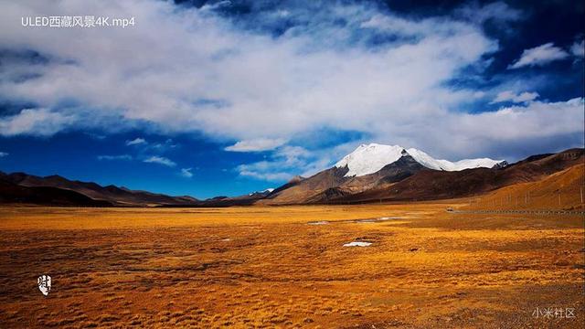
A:
{"type": "Polygon", "coordinates": [[[347,168],[330,168],[294,186],[282,186],[258,203],[337,204],[476,196],[503,186],[537,181],[582,164],[583,159],[583,149],[570,149],[533,155],[506,166],[448,172],[423,167],[407,155],[371,175],[345,177],[347,168]]]}

